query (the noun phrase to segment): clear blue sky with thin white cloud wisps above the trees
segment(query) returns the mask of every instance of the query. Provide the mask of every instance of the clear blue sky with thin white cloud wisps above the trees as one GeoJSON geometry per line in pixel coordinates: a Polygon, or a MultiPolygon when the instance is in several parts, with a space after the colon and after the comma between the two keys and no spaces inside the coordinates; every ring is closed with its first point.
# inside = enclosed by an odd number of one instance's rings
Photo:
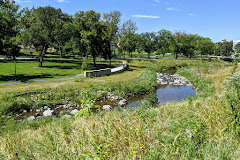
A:
{"type": "Polygon", "coordinates": [[[120,11],[121,22],[132,19],[138,33],[161,29],[209,37],[213,42],[240,40],[240,0],[15,0],[22,8],[52,6],[74,15],[94,10],[120,11]]]}

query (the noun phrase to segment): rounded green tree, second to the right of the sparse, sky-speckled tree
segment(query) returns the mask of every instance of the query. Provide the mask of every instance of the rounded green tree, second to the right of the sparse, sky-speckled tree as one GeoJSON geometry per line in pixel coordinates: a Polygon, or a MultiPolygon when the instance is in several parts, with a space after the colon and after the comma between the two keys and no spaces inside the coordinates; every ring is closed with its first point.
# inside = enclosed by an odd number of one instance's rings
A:
{"type": "Polygon", "coordinates": [[[156,36],[156,49],[163,54],[170,52],[170,45],[172,41],[172,33],[168,30],[160,30],[156,36]]]}

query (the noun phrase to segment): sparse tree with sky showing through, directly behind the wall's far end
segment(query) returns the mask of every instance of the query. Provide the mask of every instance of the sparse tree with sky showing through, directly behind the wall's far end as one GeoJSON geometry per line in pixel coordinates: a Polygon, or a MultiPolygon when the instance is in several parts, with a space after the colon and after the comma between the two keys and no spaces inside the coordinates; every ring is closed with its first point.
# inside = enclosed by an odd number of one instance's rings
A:
{"type": "Polygon", "coordinates": [[[119,37],[120,37],[119,45],[124,52],[126,51],[129,54],[131,54],[131,57],[132,57],[132,52],[135,51],[135,48],[136,48],[136,39],[135,39],[136,31],[137,31],[136,23],[133,22],[132,20],[127,20],[126,22],[123,23],[119,33],[119,37]]]}

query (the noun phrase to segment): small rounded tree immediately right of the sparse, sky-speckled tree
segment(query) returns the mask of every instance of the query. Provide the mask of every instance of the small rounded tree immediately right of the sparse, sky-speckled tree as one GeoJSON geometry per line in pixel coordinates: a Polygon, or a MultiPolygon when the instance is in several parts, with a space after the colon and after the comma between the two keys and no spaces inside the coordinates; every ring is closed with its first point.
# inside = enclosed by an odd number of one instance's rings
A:
{"type": "Polygon", "coordinates": [[[150,59],[150,54],[156,50],[156,38],[155,38],[155,33],[142,33],[142,48],[145,52],[148,53],[148,59],[150,59]]]}

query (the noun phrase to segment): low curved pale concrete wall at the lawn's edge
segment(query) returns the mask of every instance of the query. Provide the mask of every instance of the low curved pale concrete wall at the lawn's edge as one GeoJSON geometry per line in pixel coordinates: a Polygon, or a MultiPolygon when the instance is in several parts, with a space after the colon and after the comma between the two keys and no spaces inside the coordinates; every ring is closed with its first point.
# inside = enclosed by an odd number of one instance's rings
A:
{"type": "Polygon", "coordinates": [[[84,71],[84,77],[102,77],[102,76],[109,76],[116,73],[121,73],[127,70],[127,63],[123,61],[120,64],[120,67],[117,68],[105,68],[99,70],[92,70],[92,71],[84,71]]]}

